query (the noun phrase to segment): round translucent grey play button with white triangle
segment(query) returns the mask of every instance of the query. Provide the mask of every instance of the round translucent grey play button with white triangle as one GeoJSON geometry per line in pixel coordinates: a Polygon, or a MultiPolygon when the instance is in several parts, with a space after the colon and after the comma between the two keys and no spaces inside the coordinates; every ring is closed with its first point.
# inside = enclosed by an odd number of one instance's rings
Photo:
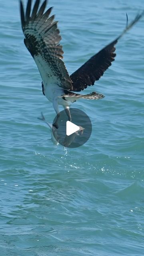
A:
{"type": "Polygon", "coordinates": [[[71,121],[69,121],[70,118],[68,120],[69,111],[62,110],[60,115],[57,115],[54,118],[52,132],[54,138],[62,146],[67,148],[77,148],[86,143],[90,138],[92,133],[92,123],[87,114],[82,110],[77,108],[70,108],[69,110],[71,121]]]}

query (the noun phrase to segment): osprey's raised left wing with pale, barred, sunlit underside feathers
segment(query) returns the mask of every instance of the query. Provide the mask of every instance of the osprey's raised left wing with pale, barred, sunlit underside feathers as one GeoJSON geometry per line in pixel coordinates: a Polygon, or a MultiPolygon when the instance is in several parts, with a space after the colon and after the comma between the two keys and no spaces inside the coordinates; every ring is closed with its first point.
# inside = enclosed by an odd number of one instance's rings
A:
{"type": "Polygon", "coordinates": [[[24,44],[34,58],[40,71],[44,84],[58,84],[58,86],[71,90],[72,81],[68,75],[63,58],[60,31],[54,15],[50,16],[52,7],[44,12],[45,0],[40,6],[40,0],[36,0],[31,11],[31,0],[28,0],[26,12],[20,1],[20,14],[22,30],[24,32],[24,44]]]}

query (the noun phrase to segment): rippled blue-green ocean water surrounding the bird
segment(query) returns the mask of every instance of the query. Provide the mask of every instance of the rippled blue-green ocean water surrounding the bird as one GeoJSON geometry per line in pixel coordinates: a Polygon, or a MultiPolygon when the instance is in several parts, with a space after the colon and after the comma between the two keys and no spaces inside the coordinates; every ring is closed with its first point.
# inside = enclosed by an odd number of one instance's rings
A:
{"type": "MultiPolygon", "coordinates": [[[[24,1],[26,4],[26,1],[24,1]]],[[[142,0],[50,0],[71,74],[144,9],[142,0]]],[[[0,256],[144,255],[144,17],[81,100],[92,135],[54,146],[55,113],[23,43],[18,0],[0,0],[0,256]]]]}

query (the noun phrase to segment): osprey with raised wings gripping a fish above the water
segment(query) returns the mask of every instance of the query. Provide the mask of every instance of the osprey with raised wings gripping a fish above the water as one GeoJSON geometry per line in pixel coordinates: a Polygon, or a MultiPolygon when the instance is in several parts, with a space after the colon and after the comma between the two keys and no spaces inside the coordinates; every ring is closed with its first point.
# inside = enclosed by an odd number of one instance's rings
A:
{"type": "Polygon", "coordinates": [[[96,92],[85,95],[76,92],[94,85],[94,82],[100,79],[114,61],[116,56],[114,53],[116,50],[115,44],[142,17],[144,12],[138,14],[129,25],[127,17],[126,28],[122,34],[69,76],[62,61],[64,52],[59,44],[61,36],[57,27],[58,22],[54,21],[54,15],[50,16],[52,7],[44,12],[47,0],[41,6],[40,0],[36,0],[31,10],[31,2],[31,0],[28,0],[26,12],[24,12],[20,0],[21,23],[25,36],[24,44],[38,66],[42,78],[42,92],[53,104],[57,114],[57,120],[53,125],[58,128],[58,117],[60,115],[58,105],[62,105],[66,109],[68,120],[71,121],[69,110],[71,103],[80,98],[97,100],[104,97],[96,92]]]}

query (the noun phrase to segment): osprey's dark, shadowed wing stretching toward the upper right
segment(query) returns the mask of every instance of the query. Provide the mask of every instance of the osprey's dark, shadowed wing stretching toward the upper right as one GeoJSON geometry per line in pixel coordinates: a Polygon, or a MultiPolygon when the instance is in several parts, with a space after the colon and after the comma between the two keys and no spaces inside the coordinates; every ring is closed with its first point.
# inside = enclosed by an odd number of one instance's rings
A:
{"type": "Polygon", "coordinates": [[[99,80],[104,72],[112,65],[114,53],[116,48],[114,47],[118,40],[126,33],[142,16],[144,11],[141,14],[138,14],[136,18],[128,25],[128,16],[126,22],[126,28],[116,40],[104,47],[100,52],[92,56],[84,65],[82,65],[78,70],[76,70],[71,76],[73,84],[73,92],[80,92],[87,88],[87,86],[94,85],[96,80],[99,80]]]}

